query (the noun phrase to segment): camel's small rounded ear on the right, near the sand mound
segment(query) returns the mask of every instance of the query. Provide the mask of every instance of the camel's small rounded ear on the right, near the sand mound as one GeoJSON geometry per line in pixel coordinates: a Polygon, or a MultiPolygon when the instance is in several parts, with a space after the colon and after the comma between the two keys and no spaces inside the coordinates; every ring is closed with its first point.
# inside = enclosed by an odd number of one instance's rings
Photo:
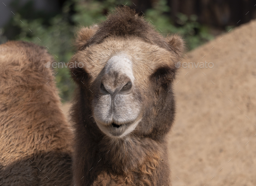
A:
{"type": "Polygon", "coordinates": [[[167,36],[166,40],[168,44],[171,45],[178,58],[181,58],[181,55],[184,53],[185,50],[185,42],[182,37],[174,34],[171,36],[167,36]]]}

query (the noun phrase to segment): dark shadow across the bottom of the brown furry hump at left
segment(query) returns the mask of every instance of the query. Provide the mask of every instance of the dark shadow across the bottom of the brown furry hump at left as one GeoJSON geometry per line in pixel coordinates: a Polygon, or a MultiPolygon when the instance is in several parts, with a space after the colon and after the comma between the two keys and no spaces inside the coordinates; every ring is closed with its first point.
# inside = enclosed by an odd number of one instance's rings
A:
{"type": "Polygon", "coordinates": [[[0,185],[35,186],[39,183],[40,186],[70,186],[71,167],[72,158],[68,153],[51,151],[31,154],[7,166],[0,164],[0,185]],[[58,173],[57,176],[50,174],[52,170],[58,173]]]}

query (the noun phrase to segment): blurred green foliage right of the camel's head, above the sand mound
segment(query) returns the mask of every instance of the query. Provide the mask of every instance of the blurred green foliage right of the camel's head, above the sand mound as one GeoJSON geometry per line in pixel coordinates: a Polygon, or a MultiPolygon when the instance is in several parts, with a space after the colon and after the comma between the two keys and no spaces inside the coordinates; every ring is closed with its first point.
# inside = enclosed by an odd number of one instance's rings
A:
{"type": "Polygon", "coordinates": [[[153,9],[145,13],[145,18],[151,20],[156,26],[159,33],[167,36],[169,33],[178,33],[184,37],[188,50],[213,39],[209,29],[197,22],[197,16],[190,17],[178,13],[177,19],[172,20],[168,15],[170,7],[167,6],[166,0],[159,0],[153,9]]]}

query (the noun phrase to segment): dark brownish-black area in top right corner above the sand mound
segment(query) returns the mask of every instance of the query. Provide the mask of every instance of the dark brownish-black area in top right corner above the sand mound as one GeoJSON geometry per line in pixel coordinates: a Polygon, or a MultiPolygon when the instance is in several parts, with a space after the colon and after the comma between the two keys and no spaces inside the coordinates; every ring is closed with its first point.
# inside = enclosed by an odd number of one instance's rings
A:
{"type": "Polygon", "coordinates": [[[198,22],[224,29],[225,26],[239,26],[256,18],[255,0],[168,0],[172,11],[185,15],[195,14],[198,22]]]}

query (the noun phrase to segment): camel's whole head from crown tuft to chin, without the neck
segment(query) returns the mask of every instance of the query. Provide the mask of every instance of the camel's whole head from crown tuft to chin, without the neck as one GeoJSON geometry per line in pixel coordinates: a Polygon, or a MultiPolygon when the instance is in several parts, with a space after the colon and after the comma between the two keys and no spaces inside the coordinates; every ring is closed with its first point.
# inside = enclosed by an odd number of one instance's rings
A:
{"type": "Polygon", "coordinates": [[[80,115],[111,138],[157,137],[174,118],[171,85],[184,42],[162,37],[128,7],[115,13],[76,38],[71,62],[80,65],[70,71],[83,100],[80,115]]]}

